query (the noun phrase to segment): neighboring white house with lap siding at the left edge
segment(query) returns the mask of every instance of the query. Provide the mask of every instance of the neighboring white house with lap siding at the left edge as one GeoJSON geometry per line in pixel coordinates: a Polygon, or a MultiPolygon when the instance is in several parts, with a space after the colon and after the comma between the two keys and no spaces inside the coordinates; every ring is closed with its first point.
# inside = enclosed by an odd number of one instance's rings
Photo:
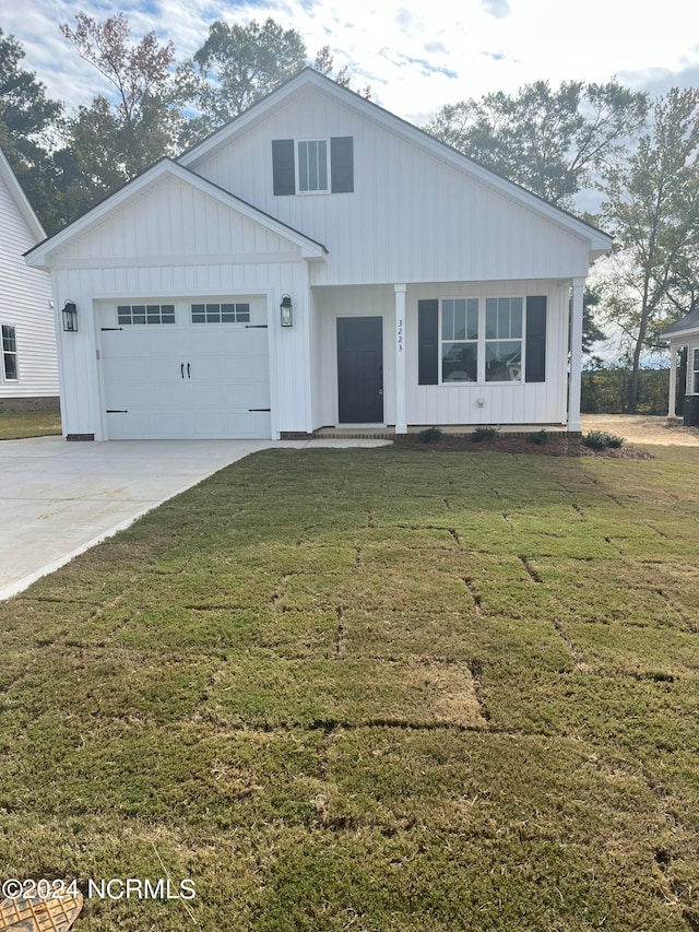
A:
{"type": "Polygon", "coordinates": [[[45,236],[0,151],[0,413],[58,408],[51,281],[23,258],[45,236]]]}

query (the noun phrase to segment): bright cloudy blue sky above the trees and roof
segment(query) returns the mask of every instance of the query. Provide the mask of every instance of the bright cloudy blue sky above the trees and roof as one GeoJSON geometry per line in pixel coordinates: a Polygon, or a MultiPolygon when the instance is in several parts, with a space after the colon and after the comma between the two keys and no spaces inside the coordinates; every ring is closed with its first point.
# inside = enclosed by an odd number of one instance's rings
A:
{"type": "Polygon", "coordinates": [[[607,81],[653,94],[677,84],[699,86],[696,0],[85,0],[5,4],[0,28],[24,46],[24,66],[69,113],[102,90],[99,76],[59,31],[80,10],[104,20],[123,11],[140,38],[155,30],[173,39],[178,60],[204,42],[216,19],[248,23],[272,16],[304,37],[312,57],[329,45],[354,85],[372,99],[424,123],[442,104],[489,91],[517,91],[548,79],[607,81]],[[662,11],[662,12],[661,12],[662,11]]]}

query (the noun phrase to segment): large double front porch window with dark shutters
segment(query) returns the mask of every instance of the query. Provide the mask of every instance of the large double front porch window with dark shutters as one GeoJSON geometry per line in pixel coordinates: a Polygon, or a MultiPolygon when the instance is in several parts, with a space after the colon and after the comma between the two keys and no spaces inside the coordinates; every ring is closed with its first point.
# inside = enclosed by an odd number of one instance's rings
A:
{"type": "Polygon", "coordinates": [[[546,381],[546,295],[418,300],[418,385],[546,381]]]}

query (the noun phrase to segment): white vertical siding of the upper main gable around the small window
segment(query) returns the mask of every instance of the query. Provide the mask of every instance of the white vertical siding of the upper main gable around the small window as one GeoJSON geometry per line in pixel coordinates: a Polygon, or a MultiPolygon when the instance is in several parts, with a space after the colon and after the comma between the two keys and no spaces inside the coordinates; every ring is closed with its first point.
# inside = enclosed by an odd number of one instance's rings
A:
{"type": "Polygon", "coordinates": [[[190,167],[323,243],[329,255],[311,268],[311,285],[587,275],[584,236],[488,182],[487,173],[466,170],[448,150],[435,153],[414,128],[399,134],[383,111],[374,117],[312,86],[301,91],[233,144],[194,153],[190,167]],[[272,140],[336,135],[353,138],[352,193],[274,196],[272,140]]]}

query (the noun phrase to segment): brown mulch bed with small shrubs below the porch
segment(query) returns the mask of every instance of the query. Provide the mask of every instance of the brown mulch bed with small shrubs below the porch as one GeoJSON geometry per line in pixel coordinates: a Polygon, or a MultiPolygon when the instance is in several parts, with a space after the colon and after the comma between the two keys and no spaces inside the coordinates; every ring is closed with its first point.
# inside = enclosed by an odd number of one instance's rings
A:
{"type": "Polygon", "coordinates": [[[445,434],[440,440],[424,444],[417,434],[396,436],[393,447],[403,450],[441,450],[445,452],[498,452],[534,453],[545,457],[603,457],[614,460],[652,460],[653,455],[640,447],[605,447],[592,450],[582,444],[580,437],[550,437],[545,444],[535,444],[528,437],[508,437],[501,435],[493,440],[472,440],[471,437],[455,437],[445,434]]]}

